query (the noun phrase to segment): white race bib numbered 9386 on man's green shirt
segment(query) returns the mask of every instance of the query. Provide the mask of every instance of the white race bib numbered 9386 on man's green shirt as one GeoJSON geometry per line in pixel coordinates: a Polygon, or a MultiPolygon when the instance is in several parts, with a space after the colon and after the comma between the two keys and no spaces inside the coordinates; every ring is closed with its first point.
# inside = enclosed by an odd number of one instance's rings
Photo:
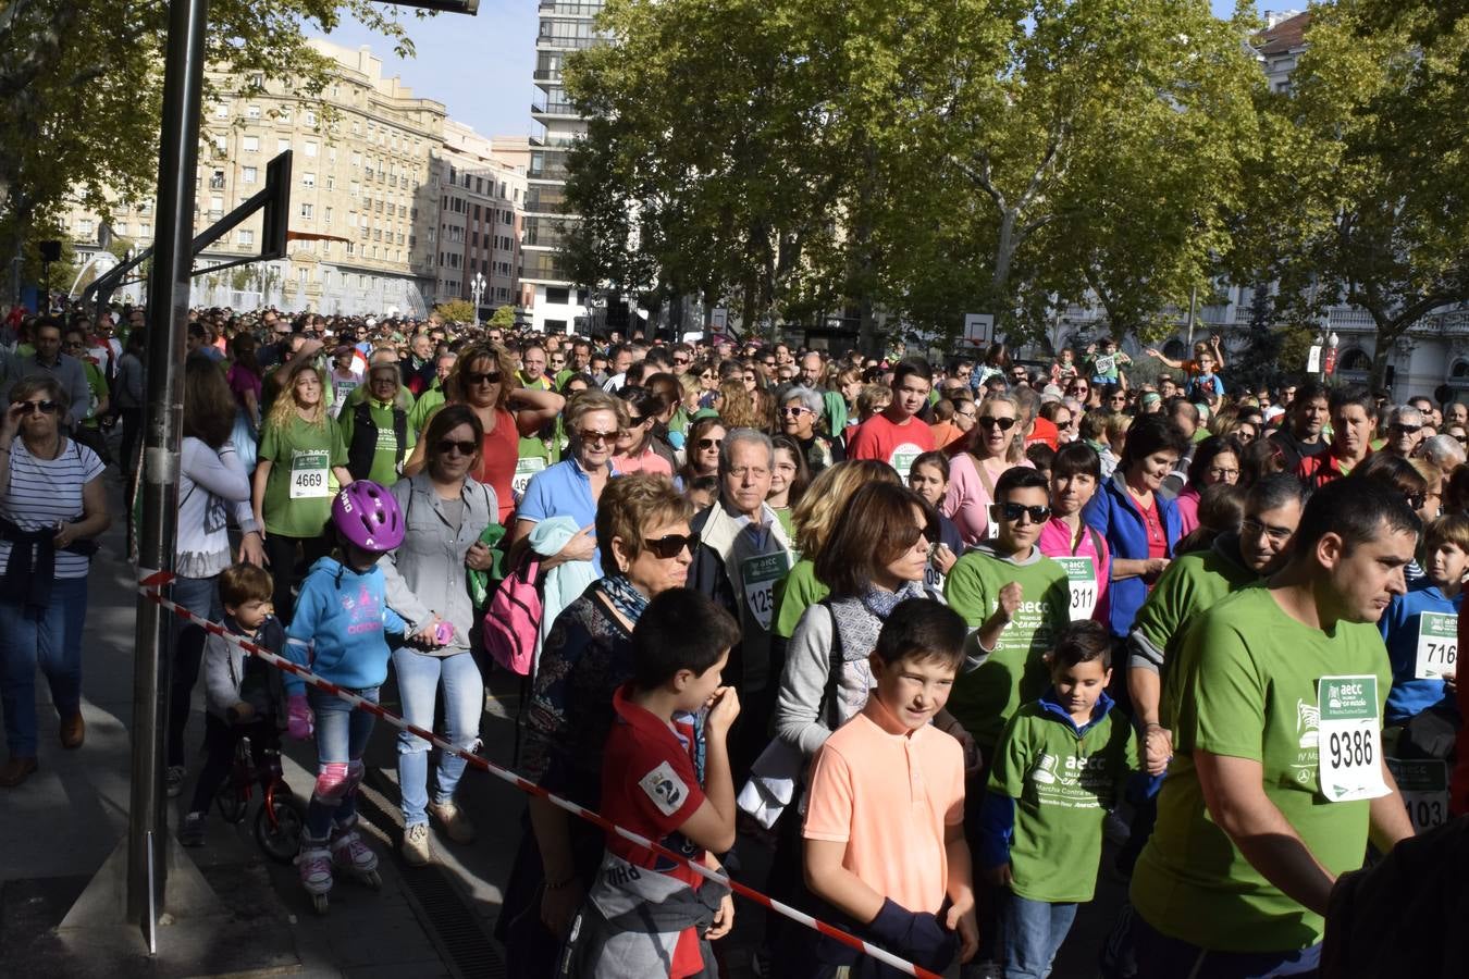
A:
{"type": "Polygon", "coordinates": [[[1321,791],[1327,801],[1346,803],[1387,796],[1382,782],[1382,719],[1376,677],[1322,677],[1316,685],[1321,716],[1321,791]]]}

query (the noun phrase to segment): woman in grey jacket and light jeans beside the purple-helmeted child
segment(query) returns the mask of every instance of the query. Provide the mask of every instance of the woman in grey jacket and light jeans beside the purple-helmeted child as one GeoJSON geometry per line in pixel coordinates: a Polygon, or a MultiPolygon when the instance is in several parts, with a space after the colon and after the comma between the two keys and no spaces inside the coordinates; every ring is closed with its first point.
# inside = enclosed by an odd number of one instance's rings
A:
{"type": "MultiPolygon", "coordinates": [[[[417,647],[392,653],[392,669],[410,724],[433,727],[435,705],[442,703],[448,740],[473,750],[485,684],[470,652],[474,606],[464,568],[485,571],[489,549],[480,533],[499,512],[494,492],[469,477],[479,462],[483,430],[467,405],[450,405],[433,415],[423,432],[425,468],[392,487],[407,530],[403,545],[379,561],[388,605],[408,622],[408,634],[441,636],[417,647]],[[442,697],[439,691],[442,690],[442,697]]],[[[407,731],[398,734],[398,788],[403,794],[403,857],[411,866],[430,860],[429,816],[454,842],[473,842],[474,828],[454,804],[454,790],[464,774],[464,759],[439,756],[433,801],[429,801],[429,743],[407,731]]]]}

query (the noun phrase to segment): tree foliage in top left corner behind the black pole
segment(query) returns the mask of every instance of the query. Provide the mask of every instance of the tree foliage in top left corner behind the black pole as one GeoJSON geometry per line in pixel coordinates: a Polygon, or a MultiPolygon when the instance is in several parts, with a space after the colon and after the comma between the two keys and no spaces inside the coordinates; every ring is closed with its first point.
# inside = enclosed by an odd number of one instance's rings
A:
{"type": "MultiPolygon", "coordinates": [[[[9,0],[0,10],[0,255],[22,254],[68,200],[106,217],[118,200],[153,195],[167,7],[9,0]]],[[[225,78],[289,81],[317,97],[331,60],[303,28],[331,29],[344,12],[411,53],[397,15],[369,0],[213,0],[206,103],[225,78]]]]}

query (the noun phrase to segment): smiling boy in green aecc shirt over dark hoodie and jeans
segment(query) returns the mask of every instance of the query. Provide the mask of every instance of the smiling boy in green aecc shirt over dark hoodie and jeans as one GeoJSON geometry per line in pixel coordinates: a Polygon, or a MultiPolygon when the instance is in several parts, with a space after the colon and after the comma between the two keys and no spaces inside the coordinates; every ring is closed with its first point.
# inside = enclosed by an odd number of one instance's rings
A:
{"type": "Polygon", "coordinates": [[[1069,624],[1049,658],[1050,690],[1022,706],[995,751],[978,860],[1002,898],[1006,976],[1044,976],[1077,904],[1096,894],[1102,820],[1137,768],[1137,741],[1112,716],[1112,640],[1069,624]]]}

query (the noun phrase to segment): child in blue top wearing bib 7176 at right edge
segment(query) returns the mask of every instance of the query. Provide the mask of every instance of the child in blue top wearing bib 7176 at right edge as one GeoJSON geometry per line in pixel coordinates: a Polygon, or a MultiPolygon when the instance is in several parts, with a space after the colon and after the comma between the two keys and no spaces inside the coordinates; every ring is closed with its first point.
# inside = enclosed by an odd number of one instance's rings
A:
{"type": "Polygon", "coordinates": [[[1469,517],[1440,517],[1423,531],[1425,578],[1387,606],[1378,622],[1393,662],[1387,724],[1403,725],[1438,707],[1457,718],[1454,691],[1459,605],[1469,571],[1469,517]]]}

